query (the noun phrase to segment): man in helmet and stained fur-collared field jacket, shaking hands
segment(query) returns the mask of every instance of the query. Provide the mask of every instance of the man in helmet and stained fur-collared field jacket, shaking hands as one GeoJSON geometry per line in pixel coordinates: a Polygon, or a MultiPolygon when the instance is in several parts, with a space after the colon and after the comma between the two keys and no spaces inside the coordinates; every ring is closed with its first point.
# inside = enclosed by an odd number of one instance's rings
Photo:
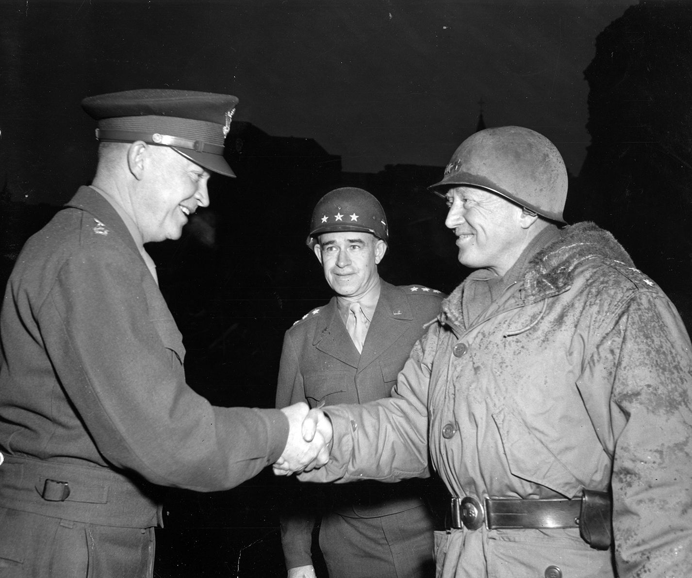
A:
{"type": "Polygon", "coordinates": [[[443,578],[692,575],[692,345],[671,301],[610,233],[563,226],[565,167],[534,131],[474,134],[432,188],[475,271],[390,399],[325,410],[331,461],[301,479],[431,460],[454,496],[443,578]]]}

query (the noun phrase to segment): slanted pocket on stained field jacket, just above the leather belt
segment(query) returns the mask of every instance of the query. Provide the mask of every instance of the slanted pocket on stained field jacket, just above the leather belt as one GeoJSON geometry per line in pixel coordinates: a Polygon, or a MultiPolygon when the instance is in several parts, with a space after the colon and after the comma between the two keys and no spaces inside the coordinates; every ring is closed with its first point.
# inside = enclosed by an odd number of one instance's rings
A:
{"type": "Polygon", "coordinates": [[[581,482],[526,424],[507,408],[493,413],[504,455],[513,476],[545,486],[567,498],[581,491],[581,482]]]}

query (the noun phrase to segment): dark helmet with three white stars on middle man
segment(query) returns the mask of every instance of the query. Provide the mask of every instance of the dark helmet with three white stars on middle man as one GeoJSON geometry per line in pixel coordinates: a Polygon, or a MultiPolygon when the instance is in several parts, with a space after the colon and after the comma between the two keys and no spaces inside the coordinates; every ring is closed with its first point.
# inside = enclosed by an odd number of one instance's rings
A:
{"type": "Polygon", "coordinates": [[[322,233],[363,231],[388,243],[387,217],[380,202],[367,190],[343,187],[329,191],[312,212],[307,245],[312,249],[322,233]]]}

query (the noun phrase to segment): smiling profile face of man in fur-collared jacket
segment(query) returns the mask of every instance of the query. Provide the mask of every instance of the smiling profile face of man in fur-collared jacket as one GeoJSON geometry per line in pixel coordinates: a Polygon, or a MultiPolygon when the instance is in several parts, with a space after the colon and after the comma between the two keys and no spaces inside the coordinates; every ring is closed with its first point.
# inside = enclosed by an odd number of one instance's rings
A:
{"type": "Polygon", "coordinates": [[[457,235],[459,262],[472,269],[490,269],[503,276],[518,260],[536,217],[520,206],[484,189],[455,187],[446,192],[445,225],[457,235]]]}

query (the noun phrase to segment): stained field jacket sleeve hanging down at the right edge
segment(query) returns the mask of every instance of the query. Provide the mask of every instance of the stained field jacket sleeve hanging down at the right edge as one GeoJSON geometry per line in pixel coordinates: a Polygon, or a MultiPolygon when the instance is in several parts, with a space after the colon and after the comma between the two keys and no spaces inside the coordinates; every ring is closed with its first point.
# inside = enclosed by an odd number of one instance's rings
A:
{"type": "MultiPolygon", "coordinates": [[[[621,578],[692,575],[692,352],[671,302],[639,291],[590,360],[611,383],[615,559],[621,578]]],[[[597,423],[603,422],[597,419],[597,423]]]]}

